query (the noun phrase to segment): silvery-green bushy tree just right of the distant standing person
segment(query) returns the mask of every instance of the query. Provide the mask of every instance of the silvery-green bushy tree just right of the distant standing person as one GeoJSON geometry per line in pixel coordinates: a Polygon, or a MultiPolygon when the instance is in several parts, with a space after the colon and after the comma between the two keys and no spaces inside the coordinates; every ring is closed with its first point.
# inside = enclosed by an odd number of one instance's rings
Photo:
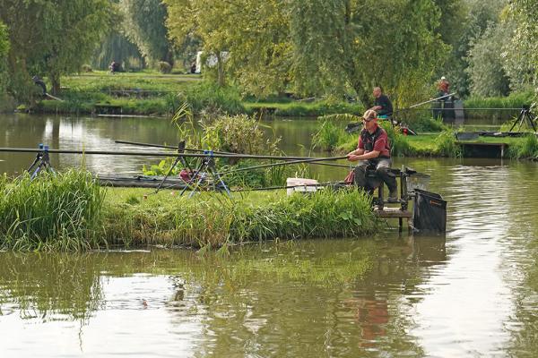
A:
{"type": "Polygon", "coordinates": [[[502,47],[511,38],[512,30],[500,24],[490,25],[477,38],[469,51],[471,94],[482,97],[506,96],[508,76],[503,68],[502,47]]]}

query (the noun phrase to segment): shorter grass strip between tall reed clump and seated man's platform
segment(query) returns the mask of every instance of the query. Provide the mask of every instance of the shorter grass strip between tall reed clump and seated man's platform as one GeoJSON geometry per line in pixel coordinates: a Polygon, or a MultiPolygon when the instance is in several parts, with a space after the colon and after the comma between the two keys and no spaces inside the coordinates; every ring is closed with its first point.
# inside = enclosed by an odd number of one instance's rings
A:
{"type": "MultiPolygon", "coordinates": [[[[166,195],[166,194],[164,194],[166,195]]],[[[139,203],[108,201],[109,243],[218,247],[273,239],[357,237],[377,228],[369,197],[359,191],[311,195],[253,193],[233,200],[214,193],[188,199],[153,196],[139,203]],[[115,205],[110,205],[115,202],[115,205]]]]}

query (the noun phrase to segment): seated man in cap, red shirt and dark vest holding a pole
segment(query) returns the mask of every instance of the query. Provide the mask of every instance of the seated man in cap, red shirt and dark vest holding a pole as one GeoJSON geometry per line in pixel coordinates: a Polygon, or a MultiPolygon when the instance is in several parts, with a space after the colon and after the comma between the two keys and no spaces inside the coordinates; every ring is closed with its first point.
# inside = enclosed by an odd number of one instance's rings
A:
{"type": "Polygon", "coordinates": [[[394,202],[398,199],[398,186],[395,176],[390,173],[392,161],[386,132],[377,125],[377,113],[371,109],[362,116],[362,123],[364,128],[360,131],[359,145],[347,155],[349,161],[359,161],[354,169],[355,183],[369,192],[375,189],[369,187],[366,179],[366,170],[371,166],[388,187],[388,201],[394,202]]]}

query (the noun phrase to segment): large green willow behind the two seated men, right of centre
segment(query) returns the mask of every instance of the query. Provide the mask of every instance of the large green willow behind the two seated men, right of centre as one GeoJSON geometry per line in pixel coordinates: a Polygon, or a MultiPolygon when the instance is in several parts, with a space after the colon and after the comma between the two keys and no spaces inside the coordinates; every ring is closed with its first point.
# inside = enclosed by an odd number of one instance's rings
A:
{"type": "Polygon", "coordinates": [[[382,85],[400,104],[411,103],[447,54],[439,16],[431,0],[291,0],[296,84],[351,87],[366,105],[372,86],[382,85]]]}

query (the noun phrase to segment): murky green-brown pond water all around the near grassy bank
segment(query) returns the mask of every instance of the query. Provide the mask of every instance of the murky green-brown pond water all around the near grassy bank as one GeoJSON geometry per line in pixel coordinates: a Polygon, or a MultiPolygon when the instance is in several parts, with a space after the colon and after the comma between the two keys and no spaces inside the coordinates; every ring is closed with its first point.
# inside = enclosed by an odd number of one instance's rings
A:
{"type": "MultiPolygon", "coordinates": [[[[147,119],[0,116],[0,147],[173,143],[147,119]]],[[[289,154],[315,124],[280,121],[289,154]]],[[[0,154],[13,174],[29,155],[0,154]]],[[[77,165],[55,156],[53,165],[77,165]]],[[[146,159],[147,160],[147,159],[146,159]]],[[[142,158],[86,158],[138,173],[142,158]]],[[[538,166],[398,158],[448,201],[446,237],[308,240],[194,251],[0,253],[2,357],[533,357],[538,352],[538,166]]],[[[345,169],[321,175],[341,178],[345,169]]]]}

